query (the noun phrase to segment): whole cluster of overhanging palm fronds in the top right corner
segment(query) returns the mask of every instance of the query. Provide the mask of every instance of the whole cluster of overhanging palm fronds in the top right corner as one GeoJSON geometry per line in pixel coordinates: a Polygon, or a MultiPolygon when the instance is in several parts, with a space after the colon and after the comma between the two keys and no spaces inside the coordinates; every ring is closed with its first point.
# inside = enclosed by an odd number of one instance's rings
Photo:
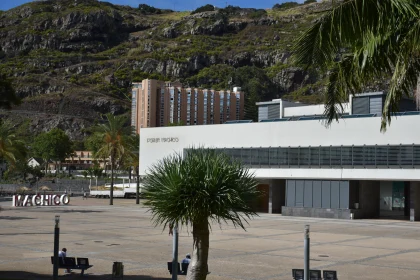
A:
{"type": "Polygon", "coordinates": [[[298,64],[329,72],[325,115],[330,124],[350,94],[389,80],[381,129],[403,96],[420,103],[418,0],[332,1],[332,8],[293,47],[298,64]],[[417,94],[415,94],[417,93],[417,94]]]}

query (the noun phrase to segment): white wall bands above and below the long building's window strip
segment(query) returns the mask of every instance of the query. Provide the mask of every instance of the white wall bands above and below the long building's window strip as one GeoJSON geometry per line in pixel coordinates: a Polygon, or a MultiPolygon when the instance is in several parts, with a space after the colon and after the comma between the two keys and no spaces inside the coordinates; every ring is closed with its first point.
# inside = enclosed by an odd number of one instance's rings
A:
{"type": "MultiPolygon", "coordinates": [[[[182,153],[184,148],[192,146],[235,148],[420,144],[420,130],[412,129],[419,122],[420,116],[393,118],[386,133],[380,132],[379,117],[340,120],[339,123],[333,122],[329,128],[317,120],[145,128],[140,134],[140,174],[145,175],[148,168],[163,157],[174,152],[182,153]]],[[[420,180],[416,169],[259,168],[251,171],[255,172],[257,178],[420,180]]]]}

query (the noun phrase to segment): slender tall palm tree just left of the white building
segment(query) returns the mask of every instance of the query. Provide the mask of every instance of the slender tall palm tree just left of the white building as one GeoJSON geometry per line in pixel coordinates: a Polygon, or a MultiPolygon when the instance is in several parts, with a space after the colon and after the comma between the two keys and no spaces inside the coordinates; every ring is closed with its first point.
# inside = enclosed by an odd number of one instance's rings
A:
{"type": "Polygon", "coordinates": [[[113,205],[114,199],[114,170],[121,162],[124,155],[131,153],[130,137],[131,128],[126,126],[127,118],[124,116],[114,116],[111,113],[105,115],[106,122],[94,128],[99,136],[100,148],[95,153],[95,157],[109,158],[111,163],[111,191],[109,195],[109,205],[113,205]]]}

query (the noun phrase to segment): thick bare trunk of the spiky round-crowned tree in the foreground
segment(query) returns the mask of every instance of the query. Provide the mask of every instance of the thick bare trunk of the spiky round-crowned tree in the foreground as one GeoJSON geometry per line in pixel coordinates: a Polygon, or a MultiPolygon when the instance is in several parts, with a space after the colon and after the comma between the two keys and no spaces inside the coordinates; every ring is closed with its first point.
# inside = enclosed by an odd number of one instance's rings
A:
{"type": "Polygon", "coordinates": [[[205,280],[208,273],[209,225],[207,220],[193,223],[193,255],[186,280],[205,280]]]}

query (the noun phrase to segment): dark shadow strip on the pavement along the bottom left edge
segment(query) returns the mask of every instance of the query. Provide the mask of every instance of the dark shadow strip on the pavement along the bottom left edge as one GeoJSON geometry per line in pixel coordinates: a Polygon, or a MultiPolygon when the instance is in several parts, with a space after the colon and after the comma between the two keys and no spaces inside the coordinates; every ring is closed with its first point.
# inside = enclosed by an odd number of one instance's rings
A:
{"type": "MultiPolygon", "coordinates": [[[[51,274],[38,274],[33,272],[27,272],[27,271],[0,271],[0,280],[43,280],[48,279],[51,280],[52,275],[51,274]]],[[[111,274],[102,274],[102,275],[95,275],[95,274],[89,274],[85,272],[84,277],[80,278],[80,273],[72,273],[72,274],[63,274],[63,272],[59,271],[58,279],[60,280],[73,280],[73,279],[94,279],[94,280],[111,280],[112,275],[111,274]]],[[[118,279],[118,278],[115,278],[118,279]]],[[[167,280],[171,279],[171,276],[168,277],[154,277],[150,275],[124,275],[124,280],[146,280],[146,279],[152,279],[152,280],[167,280]]]]}

